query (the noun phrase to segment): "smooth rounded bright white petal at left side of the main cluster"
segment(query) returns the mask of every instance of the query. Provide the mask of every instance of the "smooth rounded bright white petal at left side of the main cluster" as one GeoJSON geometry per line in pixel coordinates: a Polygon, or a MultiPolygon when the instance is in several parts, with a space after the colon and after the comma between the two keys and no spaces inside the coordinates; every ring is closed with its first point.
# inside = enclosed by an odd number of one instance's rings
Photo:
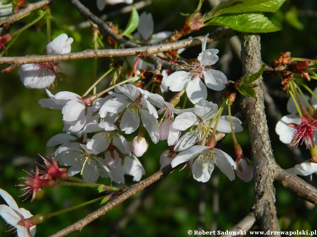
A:
{"type": "Polygon", "coordinates": [[[86,113],[86,105],[81,100],[70,100],[66,103],[61,113],[65,121],[75,121],[83,117],[86,113]]]}

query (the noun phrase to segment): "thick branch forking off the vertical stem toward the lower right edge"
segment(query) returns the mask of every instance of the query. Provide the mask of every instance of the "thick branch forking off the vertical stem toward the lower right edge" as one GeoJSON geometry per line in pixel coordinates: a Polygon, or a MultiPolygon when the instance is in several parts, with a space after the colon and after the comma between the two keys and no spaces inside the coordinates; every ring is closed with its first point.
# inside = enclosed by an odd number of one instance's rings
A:
{"type": "Polygon", "coordinates": [[[275,181],[280,186],[317,206],[317,189],[315,187],[308,184],[300,177],[287,173],[278,165],[276,165],[274,172],[275,181]]]}

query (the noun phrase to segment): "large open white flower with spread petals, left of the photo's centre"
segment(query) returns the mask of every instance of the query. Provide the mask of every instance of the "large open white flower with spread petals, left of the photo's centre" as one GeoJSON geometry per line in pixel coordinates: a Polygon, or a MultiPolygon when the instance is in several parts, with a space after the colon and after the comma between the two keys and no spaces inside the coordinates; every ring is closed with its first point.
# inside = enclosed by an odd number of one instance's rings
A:
{"type": "Polygon", "coordinates": [[[100,109],[100,117],[105,118],[107,113],[122,113],[120,121],[120,129],[126,134],[130,134],[138,129],[140,125],[140,117],[145,129],[148,131],[152,141],[157,143],[159,140],[159,122],[157,120],[158,113],[148,100],[143,98],[142,89],[138,89],[134,85],[126,84],[116,86],[115,92],[111,93],[115,98],[106,101],[100,109]]]}

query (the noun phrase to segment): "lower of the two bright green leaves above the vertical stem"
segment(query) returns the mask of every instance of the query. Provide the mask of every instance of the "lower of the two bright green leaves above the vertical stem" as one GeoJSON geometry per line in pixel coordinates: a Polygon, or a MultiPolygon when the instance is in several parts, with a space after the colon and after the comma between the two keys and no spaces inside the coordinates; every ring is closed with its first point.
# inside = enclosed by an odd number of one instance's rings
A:
{"type": "Polygon", "coordinates": [[[227,14],[212,18],[205,25],[227,26],[233,30],[251,33],[279,31],[270,20],[260,13],[227,14]]]}

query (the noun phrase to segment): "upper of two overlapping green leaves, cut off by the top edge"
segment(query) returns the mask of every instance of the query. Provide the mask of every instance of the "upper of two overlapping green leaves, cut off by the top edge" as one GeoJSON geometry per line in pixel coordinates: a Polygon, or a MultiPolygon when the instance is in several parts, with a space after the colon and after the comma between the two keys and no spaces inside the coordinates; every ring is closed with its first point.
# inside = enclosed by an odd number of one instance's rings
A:
{"type": "MultiPolygon", "coordinates": [[[[222,9],[218,10],[217,15],[256,11],[274,12],[277,11],[284,1],[285,0],[243,0],[242,4],[234,4],[232,6],[227,3],[224,4],[226,6],[225,8],[222,6],[222,9]]],[[[236,0],[233,0],[233,2],[236,2],[236,0]]],[[[215,6],[215,8],[218,7],[215,6]]]]}

